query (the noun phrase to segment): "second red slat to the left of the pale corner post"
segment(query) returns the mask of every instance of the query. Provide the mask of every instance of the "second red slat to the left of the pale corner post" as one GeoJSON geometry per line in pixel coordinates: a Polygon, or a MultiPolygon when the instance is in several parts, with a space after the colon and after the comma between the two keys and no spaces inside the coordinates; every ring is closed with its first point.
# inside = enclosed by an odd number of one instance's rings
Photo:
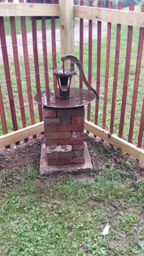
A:
{"type": "MultiPolygon", "coordinates": [[[[46,1],[43,0],[43,3],[46,1]]],[[[46,34],[46,17],[42,16],[42,42],[43,42],[43,62],[44,62],[44,73],[45,73],[45,87],[49,89],[49,78],[48,78],[48,52],[47,52],[47,34],[46,34]]]]}

